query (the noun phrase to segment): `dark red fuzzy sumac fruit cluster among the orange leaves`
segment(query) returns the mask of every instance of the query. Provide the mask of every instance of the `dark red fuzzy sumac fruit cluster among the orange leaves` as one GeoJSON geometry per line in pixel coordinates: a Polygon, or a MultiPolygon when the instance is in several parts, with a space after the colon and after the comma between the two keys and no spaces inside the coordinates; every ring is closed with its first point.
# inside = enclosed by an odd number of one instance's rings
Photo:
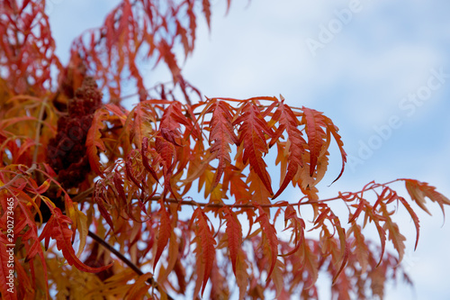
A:
{"type": "Polygon", "coordinates": [[[102,93],[93,77],[85,77],[75,97],[67,104],[67,115],[58,119],[58,134],[49,141],[47,158],[50,167],[58,173],[59,183],[76,187],[91,171],[85,155],[85,140],[94,112],[102,105],[102,93]]]}

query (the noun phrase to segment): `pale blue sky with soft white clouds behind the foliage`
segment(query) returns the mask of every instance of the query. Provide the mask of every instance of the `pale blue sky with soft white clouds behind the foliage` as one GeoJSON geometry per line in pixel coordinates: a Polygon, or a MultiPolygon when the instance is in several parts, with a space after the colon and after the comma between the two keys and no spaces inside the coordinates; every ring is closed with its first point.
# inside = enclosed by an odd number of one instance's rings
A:
{"type": "MultiPolygon", "coordinates": [[[[83,30],[101,25],[117,3],[47,0],[63,62],[70,42],[83,30]]],[[[426,181],[448,197],[449,9],[449,2],[438,0],[253,0],[232,2],[225,16],[225,1],[213,1],[211,32],[206,23],[200,25],[196,49],[184,63],[184,77],[209,97],[281,94],[289,105],[305,105],[329,116],[353,162],[328,187],[340,168],[338,152],[332,151],[329,176],[320,186],[322,198],[359,190],[371,180],[383,183],[399,177],[426,181]],[[351,8],[346,22],[339,21],[339,12],[351,8]],[[325,41],[323,28],[329,26],[335,33],[325,41]],[[321,48],[311,51],[307,41],[312,40],[321,42],[321,48]],[[436,77],[437,73],[445,76],[436,77]],[[424,100],[411,102],[417,93],[424,100]]],[[[157,68],[148,72],[146,81],[153,86],[169,78],[165,68],[157,68]]],[[[289,191],[283,197],[295,201],[297,193],[289,191]]],[[[447,220],[443,225],[437,205],[429,209],[433,216],[419,212],[415,252],[413,223],[404,212],[398,215],[408,239],[403,267],[415,291],[401,284],[389,288],[386,299],[450,298],[450,224],[447,220]]],[[[320,278],[320,284],[320,298],[328,299],[327,279],[320,278]]]]}

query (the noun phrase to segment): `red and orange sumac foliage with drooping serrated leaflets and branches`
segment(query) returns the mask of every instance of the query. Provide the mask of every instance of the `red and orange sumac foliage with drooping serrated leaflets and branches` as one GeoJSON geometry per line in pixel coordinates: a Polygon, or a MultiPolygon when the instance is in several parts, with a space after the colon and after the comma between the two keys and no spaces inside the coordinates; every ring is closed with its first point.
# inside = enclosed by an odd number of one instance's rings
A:
{"type": "Polygon", "coordinates": [[[319,274],[332,278],[335,298],[365,299],[409,280],[395,210],[407,210],[419,241],[415,211],[428,212],[429,201],[444,211],[450,201],[405,178],[320,199],[330,144],[342,160],[336,180],[347,160],[325,114],[283,96],[203,97],[183,77],[175,49],[193,51],[199,15],[210,25],[210,1],[123,0],[73,42],[66,67],[44,5],[1,6],[3,299],[317,299],[319,274]],[[141,59],[165,64],[173,81],[144,86],[141,59]],[[139,98],[130,110],[121,105],[124,81],[139,98]],[[296,199],[284,200],[287,186],[296,199]],[[379,241],[365,238],[369,226],[379,241]]]}

